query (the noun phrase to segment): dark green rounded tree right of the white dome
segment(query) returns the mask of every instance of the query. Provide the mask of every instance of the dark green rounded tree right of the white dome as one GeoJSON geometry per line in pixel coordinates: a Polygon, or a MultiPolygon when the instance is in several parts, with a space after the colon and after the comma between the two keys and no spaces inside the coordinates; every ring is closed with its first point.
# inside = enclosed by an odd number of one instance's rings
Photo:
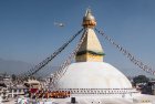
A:
{"type": "Polygon", "coordinates": [[[147,83],[149,81],[145,75],[138,75],[133,79],[134,83],[147,83]]]}

